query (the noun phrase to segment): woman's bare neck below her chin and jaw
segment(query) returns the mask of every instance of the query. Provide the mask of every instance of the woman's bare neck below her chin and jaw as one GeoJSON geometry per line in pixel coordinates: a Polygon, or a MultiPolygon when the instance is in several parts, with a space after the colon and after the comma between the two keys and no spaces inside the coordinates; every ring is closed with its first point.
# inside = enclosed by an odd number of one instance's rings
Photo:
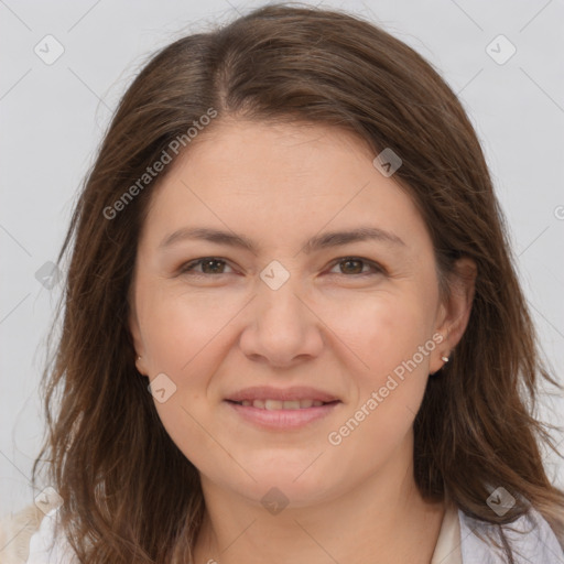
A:
{"type": "Polygon", "coordinates": [[[412,470],[394,460],[337,497],[278,514],[202,477],[206,514],[194,562],[429,564],[445,508],[421,497],[412,470]]]}

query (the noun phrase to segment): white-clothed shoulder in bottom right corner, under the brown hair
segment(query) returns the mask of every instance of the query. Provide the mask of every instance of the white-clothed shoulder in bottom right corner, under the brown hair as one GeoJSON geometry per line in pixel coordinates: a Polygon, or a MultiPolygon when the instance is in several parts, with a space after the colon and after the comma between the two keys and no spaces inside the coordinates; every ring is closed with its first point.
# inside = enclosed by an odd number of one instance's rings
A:
{"type": "Polygon", "coordinates": [[[505,564],[501,530],[513,552],[516,564],[542,562],[564,564],[564,551],[546,520],[531,508],[512,523],[501,527],[474,519],[458,510],[464,564],[505,564]]]}

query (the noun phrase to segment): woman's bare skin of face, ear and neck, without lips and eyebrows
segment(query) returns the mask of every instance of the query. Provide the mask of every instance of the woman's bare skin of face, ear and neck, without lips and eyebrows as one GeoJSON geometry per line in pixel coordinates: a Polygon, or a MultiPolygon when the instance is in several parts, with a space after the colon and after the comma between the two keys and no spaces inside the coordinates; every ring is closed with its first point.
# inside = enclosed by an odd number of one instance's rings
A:
{"type": "Polygon", "coordinates": [[[452,278],[441,303],[423,218],[347,132],[223,121],[196,141],[152,194],[130,295],[138,370],[176,386],[155,408],[202,478],[195,562],[429,563],[444,505],[415,488],[413,420],[427,378],[466,328],[475,264],[460,259],[465,278],[452,278]],[[359,226],[405,245],[302,251],[310,237],[359,226]],[[232,231],[258,250],[197,240],[159,249],[182,227],[232,231]],[[364,261],[339,262],[351,256],[364,261]],[[180,273],[209,257],[225,263],[180,273]],[[260,278],[272,260],[290,274],[278,290],[260,278]],[[332,445],[328,434],[436,333],[444,340],[332,445]],[[262,384],[311,386],[341,403],[297,432],[265,431],[224,402],[262,384]],[[290,500],[278,514],[261,503],[272,487],[290,500]]]}

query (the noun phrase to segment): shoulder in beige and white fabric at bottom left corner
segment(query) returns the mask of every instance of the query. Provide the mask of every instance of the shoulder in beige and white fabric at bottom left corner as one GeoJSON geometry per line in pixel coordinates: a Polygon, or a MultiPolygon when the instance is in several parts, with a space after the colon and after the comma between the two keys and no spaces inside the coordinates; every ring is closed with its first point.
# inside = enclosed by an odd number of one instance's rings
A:
{"type": "Polygon", "coordinates": [[[44,514],[35,506],[4,518],[0,522],[0,564],[75,564],[66,539],[55,538],[55,524],[56,513],[44,514]]]}

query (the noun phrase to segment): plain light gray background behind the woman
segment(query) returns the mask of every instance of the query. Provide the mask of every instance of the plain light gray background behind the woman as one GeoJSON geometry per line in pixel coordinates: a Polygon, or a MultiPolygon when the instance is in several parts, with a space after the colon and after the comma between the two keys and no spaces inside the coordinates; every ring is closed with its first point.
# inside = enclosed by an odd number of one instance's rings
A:
{"type": "MultiPolygon", "coordinates": [[[[61,291],[44,288],[35,272],[56,259],[111,111],[158,47],[262,3],[0,0],[0,514],[34,495],[29,476],[43,433],[37,382],[61,291]],[[65,50],[51,65],[34,53],[47,34],[65,50]]],[[[494,175],[542,346],[564,381],[564,2],[323,4],[379,22],[459,95],[494,175]],[[517,48],[505,64],[486,51],[499,34],[517,48]]],[[[503,44],[490,48],[508,53],[503,44]]],[[[562,397],[543,397],[545,420],[563,424],[563,413],[562,397]]],[[[556,440],[564,447],[564,435],[556,440]]],[[[563,486],[562,460],[549,463],[563,486]]]]}

